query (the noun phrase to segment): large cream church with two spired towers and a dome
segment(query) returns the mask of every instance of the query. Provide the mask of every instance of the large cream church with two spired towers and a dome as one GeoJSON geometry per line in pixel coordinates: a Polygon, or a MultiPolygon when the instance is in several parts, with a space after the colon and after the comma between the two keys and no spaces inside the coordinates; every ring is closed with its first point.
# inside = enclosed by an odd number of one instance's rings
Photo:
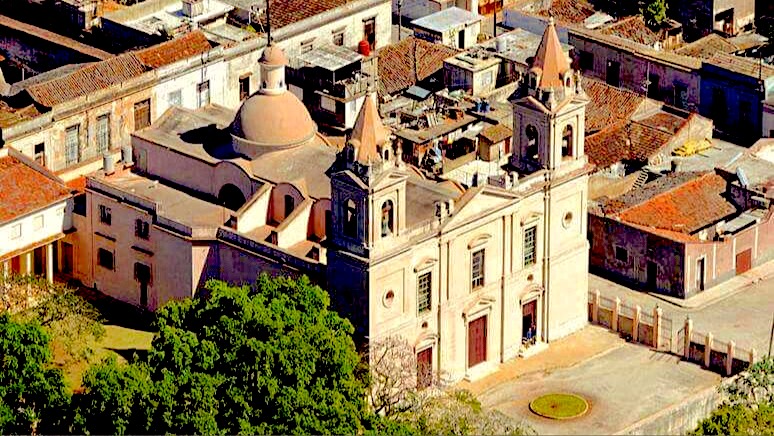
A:
{"type": "Polygon", "coordinates": [[[205,281],[305,274],[359,338],[404,337],[451,380],[587,322],[587,99],[553,22],[512,97],[506,182],[429,179],[367,98],[343,147],[317,131],[269,45],[236,114],[172,107],[75,204],[73,277],[155,310],[205,281]]]}

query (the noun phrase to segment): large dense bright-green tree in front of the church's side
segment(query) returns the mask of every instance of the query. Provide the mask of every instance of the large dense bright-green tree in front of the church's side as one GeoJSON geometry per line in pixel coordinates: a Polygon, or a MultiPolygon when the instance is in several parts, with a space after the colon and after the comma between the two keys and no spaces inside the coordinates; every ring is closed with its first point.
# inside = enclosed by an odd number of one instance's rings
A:
{"type": "Polygon", "coordinates": [[[352,434],[364,386],[352,325],[307,278],[220,281],[158,311],[145,362],[90,371],[76,401],[88,433],[352,434]],[[139,397],[135,401],[133,398],[139,397]]]}

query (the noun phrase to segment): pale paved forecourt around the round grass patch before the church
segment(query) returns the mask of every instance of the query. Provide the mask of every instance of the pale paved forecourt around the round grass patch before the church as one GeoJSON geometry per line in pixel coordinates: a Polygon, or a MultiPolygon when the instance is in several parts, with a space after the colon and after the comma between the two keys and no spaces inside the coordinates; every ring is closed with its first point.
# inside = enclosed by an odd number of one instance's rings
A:
{"type": "Polygon", "coordinates": [[[715,389],[720,380],[698,365],[588,326],[553,342],[543,353],[508,362],[497,373],[463,387],[484,406],[524,421],[538,434],[614,434],[715,389]],[[530,401],[557,392],[583,397],[588,412],[554,420],[530,411],[530,401]]]}

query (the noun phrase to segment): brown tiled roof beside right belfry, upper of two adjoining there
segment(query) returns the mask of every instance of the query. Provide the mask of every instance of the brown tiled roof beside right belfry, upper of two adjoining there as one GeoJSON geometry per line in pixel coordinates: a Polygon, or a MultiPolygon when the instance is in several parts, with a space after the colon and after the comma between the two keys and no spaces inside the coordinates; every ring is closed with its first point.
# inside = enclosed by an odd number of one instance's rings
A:
{"type": "Polygon", "coordinates": [[[596,132],[611,124],[627,121],[645,98],[604,82],[583,78],[583,90],[589,97],[586,106],[586,133],[596,132]]]}

